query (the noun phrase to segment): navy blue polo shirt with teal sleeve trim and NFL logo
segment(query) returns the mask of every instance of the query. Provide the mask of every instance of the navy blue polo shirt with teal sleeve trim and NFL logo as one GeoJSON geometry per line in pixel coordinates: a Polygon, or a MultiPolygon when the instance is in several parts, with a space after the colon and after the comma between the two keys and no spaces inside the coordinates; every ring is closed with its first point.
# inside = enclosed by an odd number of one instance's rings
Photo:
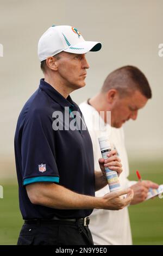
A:
{"type": "MultiPolygon", "coordinates": [[[[15,132],[15,160],[20,209],[24,220],[34,218],[82,218],[92,209],[60,210],[32,204],[26,186],[35,182],[54,182],[74,192],[95,196],[95,173],[92,142],[87,129],[54,129],[57,116],[65,107],[78,111],[78,105],[65,99],[43,79],[24,105],[15,132]],[[56,112],[55,112],[56,113],[56,112]]],[[[73,113],[73,112],[72,112],[73,113]]],[[[70,122],[74,115],[70,115],[70,122]]],[[[82,117],[83,118],[83,117],[82,117]]],[[[84,122],[84,120],[83,120],[84,122]]]]}

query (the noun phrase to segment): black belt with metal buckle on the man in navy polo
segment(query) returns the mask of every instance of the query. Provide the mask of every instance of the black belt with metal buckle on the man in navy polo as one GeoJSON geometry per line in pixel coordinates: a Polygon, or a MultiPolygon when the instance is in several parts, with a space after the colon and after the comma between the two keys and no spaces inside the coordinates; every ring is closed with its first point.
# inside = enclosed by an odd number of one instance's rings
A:
{"type": "Polygon", "coordinates": [[[41,223],[54,223],[55,221],[71,221],[74,223],[79,223],[84,226],[89,225],[90,223],[90,218],[85,217],[85,218],[58,218],[58,217],[53,217],[51,219],[33,219],[33,220],[24,220],[24,223],[26,224],[41,224],[41,223]]]}

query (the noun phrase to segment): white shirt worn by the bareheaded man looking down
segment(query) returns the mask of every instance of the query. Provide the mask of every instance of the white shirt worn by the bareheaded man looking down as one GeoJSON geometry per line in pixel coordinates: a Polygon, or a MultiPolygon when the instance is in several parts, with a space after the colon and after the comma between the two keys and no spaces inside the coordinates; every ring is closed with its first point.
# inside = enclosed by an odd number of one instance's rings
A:
{"type": "MultiPolygon", "coordinates": [[[[129,181],[127,179],[129,175],[129,166],[126,148],[124,145],[123,128],[116,129],[108,124],[104,124],[103,119],[99,116],[96,109],[87,104],[87,102],[81,103],[79,107],[84,115],[85,123],[92,139],[95,170],[101,171],[98,159],[101,158],[102,155],[99,148],[98,138],[101,136],[109,136],[109,140],[114,144],[122,163],[123,172],[120,175],[121,188],[127,188],[135,184],[135,181],[129,181]],[[98,115],[98,118],[101,121],[100,130],[96,130],[97,127],[95,127],[94,124],[92,125],[92,116],[95,116],[95,114],[96,117],[98,115]]],[[[96,197],[104,196],[104,194],[108,192],[109,186],[107,185],[96,192],[96,197]]],[[[90,215],[89,228],[95,245],[132,244],[127,207],[118,211],[94,209],[90,215]]]]}

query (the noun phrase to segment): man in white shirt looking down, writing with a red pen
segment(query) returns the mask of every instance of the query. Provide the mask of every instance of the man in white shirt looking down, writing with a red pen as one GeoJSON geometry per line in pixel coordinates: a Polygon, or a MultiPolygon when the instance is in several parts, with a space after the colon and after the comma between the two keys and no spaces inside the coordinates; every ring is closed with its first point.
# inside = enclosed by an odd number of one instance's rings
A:
{"type": "MultiPolygon", "coordinates": [[[[131,187],[134,199],[131,204],[143,202],[149,187],[158,188],[152,181],[129,181],[129,166],[124,145],[123,123],[136,120],[137,112],[151,99],[152,92],[145,75],[134,66],[123,66],[111,72],[104,81],[101,91],[79,105],[89,129],[93,144],[95,169],[100,171],[98,159],[101,150],[98,138],[108,136],[111,144],[120,155],[123,173],[120,176],[121,188],[131,187]],[[107,123],[106,111],[111,111],[111,122],[107,123]],[[101,115],[101,113],[105,115],[101,115]],[[100,123],[100,127],[97,124],[100,123]]],[[[109,192],[105,186],[96,192],[97,197],[109,192]]],[[[95,245],[131,245],[131,230],[127,207],[119,210],[93,210],[90,216],[90,230],[95,245]]]]}

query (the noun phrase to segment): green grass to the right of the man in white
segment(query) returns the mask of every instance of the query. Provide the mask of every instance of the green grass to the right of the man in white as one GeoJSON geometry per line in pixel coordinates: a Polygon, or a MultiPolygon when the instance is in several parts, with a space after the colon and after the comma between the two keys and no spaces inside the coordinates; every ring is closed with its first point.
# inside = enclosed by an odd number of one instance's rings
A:
{"type": "MultiPolygon", "coordinates": [[[[130,180],[136,180],[139,169],[142,179],[163,184],[162,162],[130,164],[130,180]],[[132,171],[133,170],[133,171],[132,171]]],[[[163,245],[163,198],[149,199],[129,207],[134,245],[163,245]]]]}

